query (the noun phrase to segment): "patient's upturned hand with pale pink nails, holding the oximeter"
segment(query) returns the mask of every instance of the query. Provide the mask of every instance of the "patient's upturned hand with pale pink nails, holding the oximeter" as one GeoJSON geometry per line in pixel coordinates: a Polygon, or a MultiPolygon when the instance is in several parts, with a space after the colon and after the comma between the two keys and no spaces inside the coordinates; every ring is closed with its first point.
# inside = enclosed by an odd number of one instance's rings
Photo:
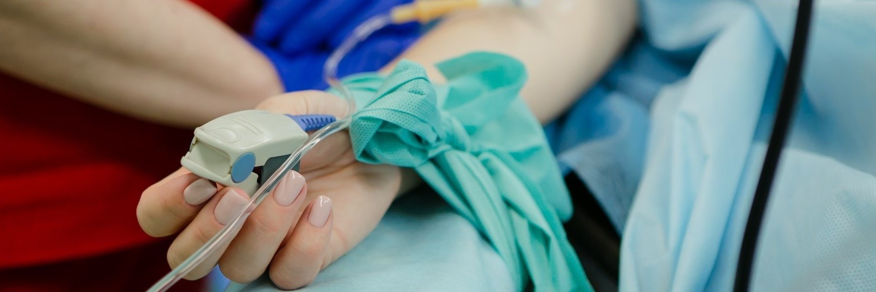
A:
{"type": "MultiPolygon", "coordinates": [[[[301,91],[269,98],[258,109],[342,116],[346,103],[325,92],[301,91]]],[[[307,285],[377,226],[399,193],[402,173],[399,167],[358,162],[345,133],[314,147],[300,169],[300,174],[286,175],[229,246],[186,278],[201,278],[218,263],[232,281],[253,281],[269,269],[279,288],[307,285]]],[[[180,168],[144,191],[137,216],[143,230],[155,237],[181,230],[167,252],[167,261],[176,267],[228,224],[248,199],[241,189],[217,188],[180,168]]]]}

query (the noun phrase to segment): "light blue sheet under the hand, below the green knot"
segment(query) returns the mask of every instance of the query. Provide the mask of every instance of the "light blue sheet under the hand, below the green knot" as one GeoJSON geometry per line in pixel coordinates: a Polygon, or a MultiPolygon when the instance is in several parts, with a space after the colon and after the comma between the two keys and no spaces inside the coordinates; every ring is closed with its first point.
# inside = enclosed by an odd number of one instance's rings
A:
{"type": "MultiPolygon", "coordinates": [[[[393,203],[377,229],[299,291],[514,291],[507,266],[431,190],[393,203]]],[[[226,291],[278,291],[266,276],[226,291]]]]}

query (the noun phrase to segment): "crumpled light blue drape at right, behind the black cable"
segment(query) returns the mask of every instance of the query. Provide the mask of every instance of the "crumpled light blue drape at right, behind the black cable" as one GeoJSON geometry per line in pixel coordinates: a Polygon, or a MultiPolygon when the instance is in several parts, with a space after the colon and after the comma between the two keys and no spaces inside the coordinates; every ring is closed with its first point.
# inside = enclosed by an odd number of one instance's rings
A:
{"type": "MultiPolygon", "coordinates": [[[[622,291],[729,291],[796,1],[639,4],[642,35],[548,137],[623,232],[622,291]]],[[[755,291],[876,289],[876,3],[816,4],[755,291]]]]}

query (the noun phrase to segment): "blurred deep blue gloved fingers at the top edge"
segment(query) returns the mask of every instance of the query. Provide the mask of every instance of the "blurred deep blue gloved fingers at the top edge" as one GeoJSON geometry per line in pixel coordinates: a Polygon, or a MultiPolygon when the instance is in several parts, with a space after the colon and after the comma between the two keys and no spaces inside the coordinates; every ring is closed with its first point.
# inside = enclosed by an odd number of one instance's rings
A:
{"type": "MultiPolygon", "coordinates": [[[[253,35],[283,53],[333,49],[368,18],[413,0],[265,0],[253,35]]],[[[410,34],[418,25],[391,25],[381,32],[410,34]]]]}

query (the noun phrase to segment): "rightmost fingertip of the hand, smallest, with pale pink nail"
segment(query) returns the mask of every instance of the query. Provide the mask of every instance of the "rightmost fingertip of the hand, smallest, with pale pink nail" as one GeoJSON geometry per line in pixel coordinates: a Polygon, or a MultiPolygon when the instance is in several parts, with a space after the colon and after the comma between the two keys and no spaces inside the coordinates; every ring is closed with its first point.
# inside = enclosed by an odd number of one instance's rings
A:
{"type": "Polygon", "coordinates": [[[294,289],[314,281],[324,266],[333,217],[332,202],[327,196],[318,196],[307,206],[286,246],[271,262],[269,275],[274,284],[294,289]]]}

